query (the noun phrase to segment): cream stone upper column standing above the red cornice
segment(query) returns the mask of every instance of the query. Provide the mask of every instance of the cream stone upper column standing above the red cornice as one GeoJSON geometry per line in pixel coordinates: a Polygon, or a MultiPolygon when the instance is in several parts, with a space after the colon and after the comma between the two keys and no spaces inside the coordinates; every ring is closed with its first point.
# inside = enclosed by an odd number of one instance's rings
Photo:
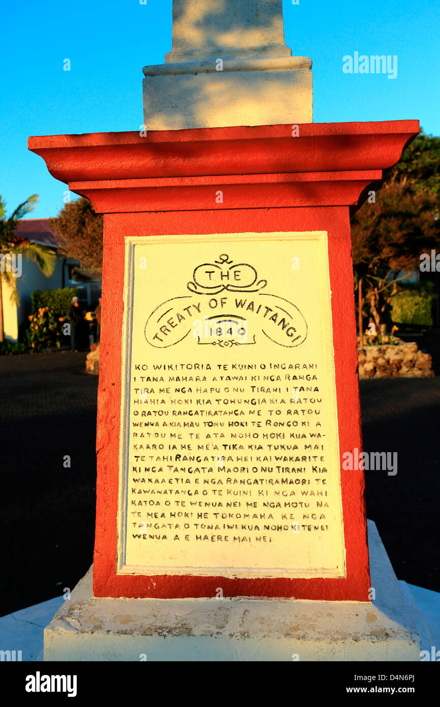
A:
{"type": "Polygon", "coordinates": [[[143,69],[147,129],[311,122],[311,60],[285,45],[282,0],[174,0],[172,18],[165,64],[143,69]]]}

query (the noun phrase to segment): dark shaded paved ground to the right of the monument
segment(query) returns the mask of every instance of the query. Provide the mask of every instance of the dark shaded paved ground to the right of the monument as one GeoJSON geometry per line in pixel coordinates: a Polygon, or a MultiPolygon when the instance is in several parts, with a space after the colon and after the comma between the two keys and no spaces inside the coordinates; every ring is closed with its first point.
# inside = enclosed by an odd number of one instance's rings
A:
{"type": "Polygon", "coordinates": [[[368,452],[398,452],[398,473],[366,472],[367,515],[398,579],[440,591],[440,378],[361,382],[368,452]]]}

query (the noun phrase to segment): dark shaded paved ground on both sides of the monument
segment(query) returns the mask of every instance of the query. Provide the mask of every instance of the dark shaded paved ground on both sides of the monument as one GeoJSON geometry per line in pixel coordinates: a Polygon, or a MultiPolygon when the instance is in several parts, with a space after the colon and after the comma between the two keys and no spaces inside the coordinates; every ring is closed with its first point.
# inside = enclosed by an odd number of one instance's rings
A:
{"type": "MultiPolygon", "coordinates": [[[[73,588],[93,557],[97,378],[85,354],[0,357],[0,616],[73,588]],[[64,467],[64,457],[71,467],[64,467]]],[[[440,378],[362,381],[364,448],[398,452],[367,472],[367,513],[398,578],[440,591],[440,378]]]]}

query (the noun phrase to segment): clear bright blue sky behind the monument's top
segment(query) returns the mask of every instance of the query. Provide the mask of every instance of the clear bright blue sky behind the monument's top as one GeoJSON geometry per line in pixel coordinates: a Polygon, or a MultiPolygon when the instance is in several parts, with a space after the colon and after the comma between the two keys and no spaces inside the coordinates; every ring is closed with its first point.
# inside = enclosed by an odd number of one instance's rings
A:
{"type": "MultiPolygon", "coordinates": [[[[439,3],[283,0],[283,8],[287,45],[314,62],[314,122],[420,119],[440,135],[439,3]],[[343,57],[354,52],[396,55],[397,77],[344,74],[343,57]]],[[[171,30],[171,0],[4,4],[0,194],[8,211],[35,192],[32,218],[63,206],[66,186],[28,152],[28,136],[139,129],[142,67],[163,62],[171,30]]]]}

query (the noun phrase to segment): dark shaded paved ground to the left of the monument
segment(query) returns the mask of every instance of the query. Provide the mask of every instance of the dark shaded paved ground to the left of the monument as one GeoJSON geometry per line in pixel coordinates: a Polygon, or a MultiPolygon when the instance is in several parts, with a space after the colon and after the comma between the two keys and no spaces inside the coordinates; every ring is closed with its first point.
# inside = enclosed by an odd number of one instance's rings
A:
{"type": "Polygon", "coordinates": [[[92,563],[97,377],[84,370],[85,354],[0,358],[0,615],[73,588],[92,563]]]}

